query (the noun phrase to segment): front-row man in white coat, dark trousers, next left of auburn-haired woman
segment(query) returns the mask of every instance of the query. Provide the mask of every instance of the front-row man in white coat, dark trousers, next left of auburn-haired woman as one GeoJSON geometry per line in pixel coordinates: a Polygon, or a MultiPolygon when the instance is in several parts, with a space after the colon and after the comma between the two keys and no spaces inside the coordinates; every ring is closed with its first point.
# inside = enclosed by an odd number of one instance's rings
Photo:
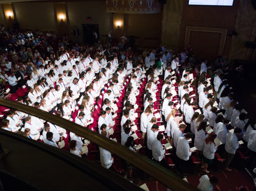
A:
{"type": "Polygon", "coordinates": [[[177,142],[176,155],[178,156],[178,161],[176,162],[175,166],[177,170],[181,173],[182,178],[186,178],[186,176],[183,175],[183,172],[188,166],[189,156],[191,156],[188,140],[192,137],[192,133],[187,133],[185,137],[180,137],[177,142]]]}

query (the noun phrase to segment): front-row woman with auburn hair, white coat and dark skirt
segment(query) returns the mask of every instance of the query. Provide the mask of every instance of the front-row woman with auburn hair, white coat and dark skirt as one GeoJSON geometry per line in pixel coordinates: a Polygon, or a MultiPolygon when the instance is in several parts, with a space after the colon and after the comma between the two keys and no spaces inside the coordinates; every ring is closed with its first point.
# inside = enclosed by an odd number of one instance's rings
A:
{"type": "Polygon", "coordinates": [[[203,159],[202,159],[202,166],[204,166],[204,172],[209,173],[207,171],[207,167],[209,164],[212,163],[212,159],[214,158],[214,153],[217,150],[215,146],[214,139],[217,137],[216,134],[210,133],[207,138],[205,138],[204,142],[204,150],[203,150],[203,159]]]}

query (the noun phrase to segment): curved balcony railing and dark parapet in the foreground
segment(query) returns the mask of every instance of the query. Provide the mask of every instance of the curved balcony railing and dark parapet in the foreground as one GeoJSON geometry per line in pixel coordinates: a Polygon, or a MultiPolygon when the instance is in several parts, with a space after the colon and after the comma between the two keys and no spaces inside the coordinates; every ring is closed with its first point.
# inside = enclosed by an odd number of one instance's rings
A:
{"type": "MultiPolygon", "coordinates": [[[[53,123],[62,128],[65,128],[66,130],[69,130],[77,135],[80,135],[80,136],[92,141],[94,144],[99,145],[100,147],[110,151],[111,153],[114,153],[115,155],[125,159],[127,162],[133,164],[134,166],[141,169],[142,171],[147,173],[149,176],[151,176],[154,179],[158,180],[159,182],[163,183],[164,185],[171,188],[172,190],[177,190],[177,191],[178,190],[179,191],[188,191],[188,190],[196,191],[196,190],[198,190],[195,187],[189,185],[184,180],[182,180],[178,175],[172,173],[171,171],[168,171],[167,169],[163,168],[161,165],[155,163],[154,161],[149,160],[147,157],[145,157],[141,154],[136,154],[135,152],[132,152],[128,148],[121,146],[121,144],[117,144],[116,142],[114,142],[106,137],[101,136],[99,133],[89,130],[88,128],[82,128],[80,125],[77,125],[71,121],[65,120],[62,117],[58,117],[49,112],[43,111],[41,109],[37,109],[37,108],[31,107],[31,106],[28,106],[25,104],[21,104],[18,102],[8,100],[8,99],[0,98],[0,105],[8,107],[8,108],[17,109],[17,110],[25,112],[29,115],[39,117],[45,121],[53,123]]],[[[31,147],[31,149],[37,148],[37,149],[41,150],[40,152],[46,153],[47,156],[48,156],[48,154],[50,154],[54,157],[57,157],[58,159],[61,159],[64,162],[68,163],[68,165],[73,165],[73,167],[75,169],[74,173],[77,169],[79,169],[80,171],[84,171],[84,173],[86,173],[86,174],[91,174],[90,176],[92,176],[94,178],[94,180],[98,179],[97,181],[99,181],[101,184],[104,184],[104,186],[107,186],[111,190],[142,190],[139,187],[135,187],[132,183],[130,183],[123,177],[104,169],[102,166],[100,166],[98,164],[95,164],[95,163],[85,160],[83,158],[76,157],[75,155],[73,155],[69,152],[49,146],[47,144],[44,144],[43,142],[28,139],[26,137],[23,137],[23,136],[15,134],[15,133],[1,129],[0,130],[0,142],[2,143],[4,149],[7,149],[4,147],[5,143],[3,142],[3,140],[7,140],[7,139],[5,139],[5,137],[11,138],[14,142],[13,145],[15,145],[15,142],[20,143],[17,147],[20,147],[21,149],[23,149],[23,145],[26,144],[27,147],[31,147]],[[113,183],[113,185],[116,186],[114,189],[113,189],[113,187],[111,187],[111,186],[113,186],[110,184],[111,182],[113,183]]],[[[16,148],[16,149],[18,149],[18,148],[16,148]]],[[[12,164],[6,163],[8,161],[8,157],[12,156],[12,152],[15,152],[15,150],[12,151],[10,149],[9,153],[3,159],[0,160],[0,171],[3,170],[2,169],[3,165],[4,166],[8,165],[9,168],[7,168],[7,169],[9,169],[10,172],[6,172],[6,173],[8,173],[8,174],[12,173],[11,172],[12,164]],[[5,163],[3,164],[3,162],[5,162],[5,163]]],[[[24,159],[23,157],[30,157],[30,158],[35,157],[36,158],[36,154],[38,154],[39,152],[38,151],[35,151],[35,152],[36,153],[33,153],[33,150],[31,150],[31,152],[26,152],[26,156],[21,155],[20,159],[21,160],[24,159]]],[[[38,156],[40,156],[40,155],[38,155],[38,156]]],[[[44,155],[42,155],[42,157],[43,156],[44,155]]],[[[19,157],[19,156],[17,156],[17,157],[19,157]]],[[[47,160],[47,159],[48,159],[47,157],[46,158],[43,157],[43,158],[41,158],[41,161],[36,161],[38,163],[38,168],[41,168],[42,174],[44,174],[43,172],[44,172],[45,166],[42,166],[41,164],[44,164],[45,160],[47,160]]],[[[26,161],[21,161],[21,160],[19,160],[18,158],[16,160],[16,162],[20,166],[18,170],[22,171],[24,174],[28,174],[28,173],[33,174],[33,172],[26,172],[26,170],[28,170],[26,166],[30,165],[30,164],[26,163],[26,161]]],[[[47,163],[47,165],[52,166],[52,171],[49,172],[51,175],[48,174],[48,176],[53,176],[52,180],[54,180],[54,177],[60,176],[60,173],[64,173],[63,171],[65,170],[65,166],[62,166],[62,168],[59,169],[59,165],[57,165],[57,166],[55,166],[55,169],[54,169],[54,166],[51,164],[51,161],[47,161],[46,163],[47,163]]],[[[6,169],[5,169],[5,171],[6,171],[6,169]]],[[[67,181],[69,180],[70,176],[72,178],[73,178],[73,176],[76,177],[76,175],[74,175],[72,173],[72,171],[71,172],[65,171],[65,173],[67,173],[66,174],[67,181]]],[[[18,173],[13,174],[13,176],[18,176],[18,173]]],[[[22,179],[22,177],[21,177],[21,179],[22,179]]],[[[76,179],[79,179],[79,177],[76,177],[76,179]]],[[[29,180],[24,179],[23,181],[29,181],[29,180]]],[[[65,180],[63,180],[63,181],[65,181],[65,180]]],[[[81,181],[83,181],[83,180],[81,180],[81,181]]],[[[44,182],[44,177],[42,177],[41,182],[44,182]]],[[[60,182],[56,182],[56,183],[60,183],[60,182]]],[[[48,182],[45,182],[45,184],[48,184],[48,182]]],[[[98,185],[95,185],[95,186],[98,186],[98,185]]],[[[106,189],[106,190],[108,190],[108,189],[106,189]]]]}

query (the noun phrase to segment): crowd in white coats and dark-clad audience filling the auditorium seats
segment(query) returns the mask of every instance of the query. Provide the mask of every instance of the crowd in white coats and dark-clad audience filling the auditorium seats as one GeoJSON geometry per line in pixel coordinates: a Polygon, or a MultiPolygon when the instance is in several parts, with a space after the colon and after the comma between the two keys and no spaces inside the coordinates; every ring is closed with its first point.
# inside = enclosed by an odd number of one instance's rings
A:
{"type": "MultiPolygon", "coordinates": [[[[208,63],[196,59],[190,46],[176,55],[165,45],[140,55],[108,42],[89,47],[66,35],[1,30],[1,98],[99,132],[166,168],[166,154],[172,153],[183,178],[192,155],[205,173],[215,153],[226,158],[224,170],[232,171],[229,164],[240,149],[249,156],[248,168],[255,168],[255,121],[233,100],[226,56],[208,63]]],[[[2,129],[88,159],[91,150],[99,150],[102,166],[117,172],[109,151],[65,128],[15,109],[2,115],[2,129]]],[[[122,168],[133,178],[132,164],[123,161],[122,168]]],[[[208,186],[201,190],[218,182],[201,179],[208,186]]]]}

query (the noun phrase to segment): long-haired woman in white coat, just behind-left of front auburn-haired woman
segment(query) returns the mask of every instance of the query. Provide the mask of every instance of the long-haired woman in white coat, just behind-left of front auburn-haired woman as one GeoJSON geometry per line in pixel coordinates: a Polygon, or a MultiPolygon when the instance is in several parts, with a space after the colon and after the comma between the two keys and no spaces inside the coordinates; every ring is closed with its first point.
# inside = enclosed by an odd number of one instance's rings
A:
{"type": "Polygon", "coordinates": [[[208,136],[205,135],[205,131],[206,131],[206,126],[207,123],[206,122],[201,122],[199,124],[199,126],[196,126],[196,130],[195,130],[195,139],[194,139],[194,146],[196,147],[196,152],[195,152],[195,158],[196,160],[199,160],[198,156],[200,151],[202,152],[204,149],[204,141],[205,138],[208,136]]]}

